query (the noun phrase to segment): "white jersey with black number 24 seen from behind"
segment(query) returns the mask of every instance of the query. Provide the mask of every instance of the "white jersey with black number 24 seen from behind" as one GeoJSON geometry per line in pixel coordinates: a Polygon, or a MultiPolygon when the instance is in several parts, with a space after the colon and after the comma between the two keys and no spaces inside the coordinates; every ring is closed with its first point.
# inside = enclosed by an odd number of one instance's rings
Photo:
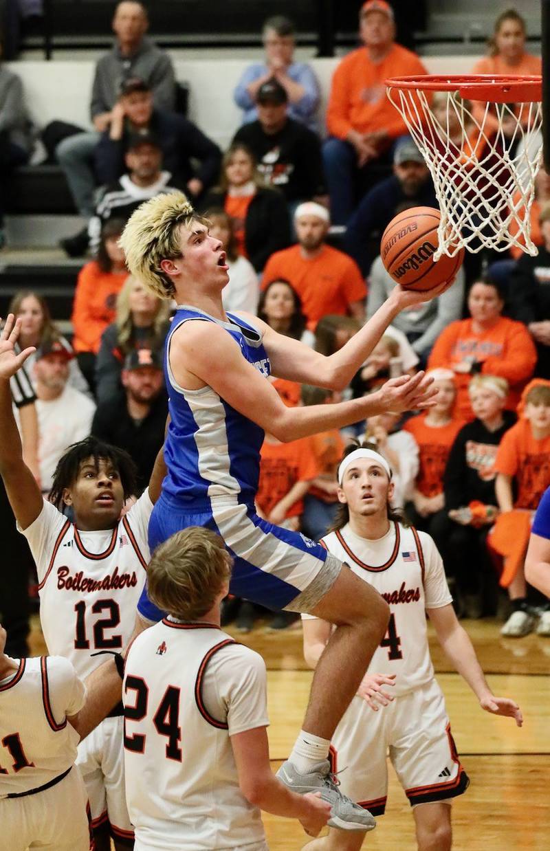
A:
{"type": "Polygon", "coordinates": [[[218,627],[165,618],[126,659],[126,800],[140,848],[266,848],[230,736],[266,727],[266,666],[218,627]]]}

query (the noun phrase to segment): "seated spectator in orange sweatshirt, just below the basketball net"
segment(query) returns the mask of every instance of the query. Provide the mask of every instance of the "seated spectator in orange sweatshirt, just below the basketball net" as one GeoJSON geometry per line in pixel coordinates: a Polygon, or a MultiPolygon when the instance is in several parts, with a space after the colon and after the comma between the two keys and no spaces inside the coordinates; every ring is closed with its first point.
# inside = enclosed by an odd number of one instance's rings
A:
{"type": "Polygon", "coordinates": [[[536,365],[536,348],[523,323],[503,317],[498,283],[488,276],[474,281],[467,296],[470,319],[450,323],[439,334],[428,358],[429,369],[455,373],[457,413],[473,420],[468,384],[478,373],[498,375],[510,385],[506,409],[515,410],[536,365]]]}

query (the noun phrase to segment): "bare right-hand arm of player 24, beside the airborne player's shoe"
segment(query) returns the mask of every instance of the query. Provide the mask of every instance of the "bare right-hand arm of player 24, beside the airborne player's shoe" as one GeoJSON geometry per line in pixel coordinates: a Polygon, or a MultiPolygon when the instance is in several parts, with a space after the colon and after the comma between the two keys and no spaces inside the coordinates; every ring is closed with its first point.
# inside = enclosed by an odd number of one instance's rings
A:
{"type": "Polygon", "coordinates": [[[316,837],[330,817],[330,804],[318,795],[296,795],[272,773],[265,727],[231,736],[243,796],[272,815],[298,819],[310,837],[316,837]]]}

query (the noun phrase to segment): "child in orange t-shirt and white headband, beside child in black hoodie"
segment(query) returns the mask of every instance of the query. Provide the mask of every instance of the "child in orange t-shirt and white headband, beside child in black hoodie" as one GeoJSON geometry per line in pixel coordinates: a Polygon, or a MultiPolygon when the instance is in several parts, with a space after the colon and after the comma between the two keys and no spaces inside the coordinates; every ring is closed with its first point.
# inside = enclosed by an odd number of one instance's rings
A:
{"type": "Polygon", "coordinates": [[[455,413],[455,375],[450,369],[433,369],[429,374],[438,388],[436,404],[404,424],[404,431],[409,431],[418,444],[420,460],[407,516],[413,526],[432,535],[444,556],[450,520],[445,511],[443,477],[450,448],[465,422],[455,413]]]}

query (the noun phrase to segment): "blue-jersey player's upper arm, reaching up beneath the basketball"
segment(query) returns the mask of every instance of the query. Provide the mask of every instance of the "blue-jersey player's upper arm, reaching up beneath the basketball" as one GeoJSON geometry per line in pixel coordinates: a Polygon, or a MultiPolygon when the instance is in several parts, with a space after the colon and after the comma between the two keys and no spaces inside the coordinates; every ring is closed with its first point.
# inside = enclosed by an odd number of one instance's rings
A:
{"type": "Polygon", "coordinates": [[[278,334],[258,317],[250,314],[243,314],[243,316],[256,326],[260,326],[264,332],[264,346],[272,363],[274,375],[304,384],[329,387],[331,390],[344,390],[398,313],[405,307],[433,298],[438,294],[439,289],[443,290],[445,287],[446,283],[427,294],[407,291],[397,286],[363,328],[354,334],[345,346],[329,357],[313,351],[299,340],[278,334]]]}

